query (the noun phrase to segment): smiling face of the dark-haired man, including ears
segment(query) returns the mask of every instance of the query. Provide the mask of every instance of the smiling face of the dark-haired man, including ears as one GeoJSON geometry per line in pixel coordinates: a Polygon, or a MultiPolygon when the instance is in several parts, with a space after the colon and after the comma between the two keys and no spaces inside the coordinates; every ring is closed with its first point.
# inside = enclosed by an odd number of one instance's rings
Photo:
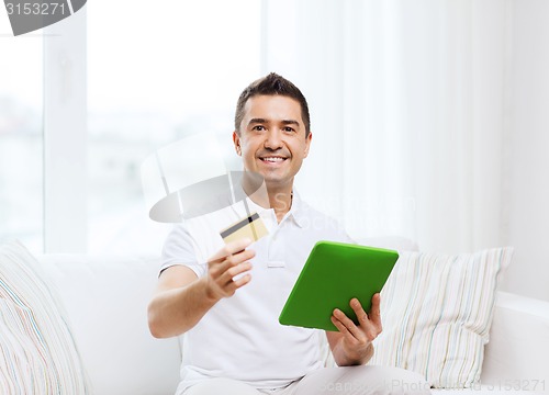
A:
{"type": "Polygon", "coordinates": [[[239,135],[233,133],[244,169],[260,173],[268,189],[289,189],[309,155],[301,105],[283,95],[255,95],[244,106],[239,135]]]}

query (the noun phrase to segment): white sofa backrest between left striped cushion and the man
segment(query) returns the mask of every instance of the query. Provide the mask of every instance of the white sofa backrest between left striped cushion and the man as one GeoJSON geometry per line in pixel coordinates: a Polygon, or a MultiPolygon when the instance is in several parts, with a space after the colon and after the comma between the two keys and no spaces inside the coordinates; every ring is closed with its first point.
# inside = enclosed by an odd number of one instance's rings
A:
{"type": "Polygon", "coordinates": [[[177,339],[155,339],[147,326],[158,259],[46,255],[40,261],[65,301],[96,395],[175,393],[177,339]]]}

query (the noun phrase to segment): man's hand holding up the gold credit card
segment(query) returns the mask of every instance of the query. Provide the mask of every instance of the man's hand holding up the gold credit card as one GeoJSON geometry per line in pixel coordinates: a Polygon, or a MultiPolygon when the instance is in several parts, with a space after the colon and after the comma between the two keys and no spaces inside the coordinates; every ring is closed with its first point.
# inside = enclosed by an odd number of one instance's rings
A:
{"type": "Polygon", "coordinates": [[[211,301],[233,296],[251,280],[251,274],[246,273],[251,269],[249,260],[256,256],[254,250],[246,249],[250,244],[248,238],[228,242],[209,259],[206,294],[211,301]]]}

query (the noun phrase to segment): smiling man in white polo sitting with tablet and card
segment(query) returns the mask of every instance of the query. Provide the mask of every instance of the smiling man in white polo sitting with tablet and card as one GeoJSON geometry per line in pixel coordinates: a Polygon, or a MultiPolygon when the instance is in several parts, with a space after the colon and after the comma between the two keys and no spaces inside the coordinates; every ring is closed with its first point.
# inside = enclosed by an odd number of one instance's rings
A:
{"type": "Polygon", "coordinates": [[[249,199],[248,206],[235,204],[188,219],[166,241],[148,314],[155,337],[186,335],[178,394],[428,393],[412,372],[356,366],[369,361],[372,340],[382,329],[379,294],[369,313],[357,300],[349,302],[359,325],[335,309],[332,321],[338,331],[324,335],[278,323],[314,244],[350,241],[334,221],[294,192],[293,180],[311,140],[306,100],[290,81],[270,74],[240,94],[234,147],[244,170],[265,179],[269,206],[249,199]],[[254,244],[242,239],[224,245],[220,229],[249,214],[249,207],[266,223],[268,236],[254,244]],[[327,337],[337,364],[347,368],[323,368],[320,334],[327,337]]]}

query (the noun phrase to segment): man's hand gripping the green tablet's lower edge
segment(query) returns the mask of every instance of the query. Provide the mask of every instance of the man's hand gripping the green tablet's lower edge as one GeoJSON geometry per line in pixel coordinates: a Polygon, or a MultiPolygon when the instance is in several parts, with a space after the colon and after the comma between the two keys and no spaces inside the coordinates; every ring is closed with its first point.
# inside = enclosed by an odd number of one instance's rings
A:
{"type": "Polygon", "coordinates": [[[329,348],[334,360],[339,366],[367,363],[373,356],[372,341],[381,334],[380,295],[372,297],[370,314],[367,314],[360,302],[354,298],[350,306],[358,317],[359,325],[336,308],[332,315],[332,323],[338,331],[327,331],[329,348]]]}

